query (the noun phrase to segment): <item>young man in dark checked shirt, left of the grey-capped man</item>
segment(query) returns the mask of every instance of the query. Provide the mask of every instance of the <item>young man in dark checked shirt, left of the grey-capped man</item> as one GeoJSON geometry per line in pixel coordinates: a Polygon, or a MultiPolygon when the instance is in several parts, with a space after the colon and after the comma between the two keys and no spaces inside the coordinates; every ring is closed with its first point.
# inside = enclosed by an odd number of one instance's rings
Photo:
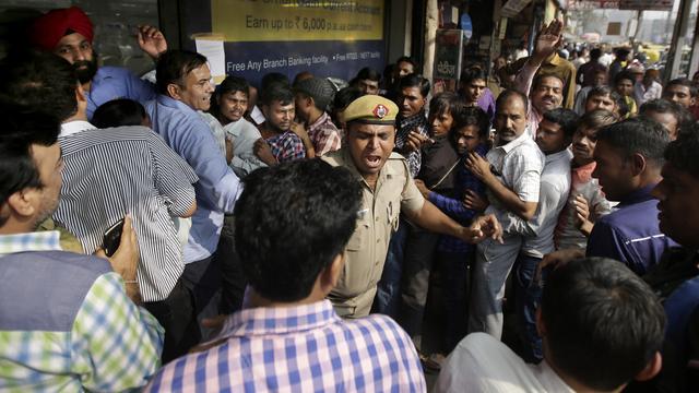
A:
{"type": "Polygon", "coordinates": [[[305,142],[310,141],[305,132],[307,141],[294,132],[294,93],[287,86],[273,85],[262,92],[260,100],[265,121],[260,126],[262,138],[252,152],[266,165],[306,158],[305,142]]]}

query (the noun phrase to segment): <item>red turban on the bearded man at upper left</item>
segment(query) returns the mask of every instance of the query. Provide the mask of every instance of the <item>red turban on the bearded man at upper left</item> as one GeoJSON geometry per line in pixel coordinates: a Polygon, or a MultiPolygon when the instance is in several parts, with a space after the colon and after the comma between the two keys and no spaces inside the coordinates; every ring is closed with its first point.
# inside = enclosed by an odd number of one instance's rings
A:
{"type": "Polygon", "coordinates": [[[29,41],[38,49],[50,51],[68,32],[80,33],[92,43],[92,22],[78,7],[51,10],[39,16],[31,27],[29,41]]]}

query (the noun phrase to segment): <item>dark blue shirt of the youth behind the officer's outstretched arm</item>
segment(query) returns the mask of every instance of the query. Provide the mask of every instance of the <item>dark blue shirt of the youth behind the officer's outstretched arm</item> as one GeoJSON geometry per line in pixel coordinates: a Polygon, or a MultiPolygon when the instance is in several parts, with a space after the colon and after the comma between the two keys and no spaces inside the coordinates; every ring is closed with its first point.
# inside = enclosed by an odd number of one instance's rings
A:
{"type": "MultiPolygon", "coordinates": [[[[482,157],[488,153],[488,146],[485,144],[479,144],[474,150],[482,157]]],[[[463,198],[466,193],[466,190],[473,190],[478,195],[485,196],[485,184],[483,181],[478,180],[471,170],[466,169],[466,167],[462,164],[459,165],[457,171],[457,189],[455,194],[459,198],[463,198]]],[[[473,217],[477,215],[477,212],[471,209],[466,209],[463,205],[462,200],[455,200],[453,198],[445,196],[438,194],[437,192],[429,193],[429,201],[435,204],[440,211],[445,214],[457,221],[461,225],[470,225],[473,217]]],[[[469,253],[473,250],[473,245],[464,242],[463,240],[455,238],[453,236],[442,235],[439,240],[439,245],[437,246],[439,251],[445,252],[462,252],[469,253]]]]}

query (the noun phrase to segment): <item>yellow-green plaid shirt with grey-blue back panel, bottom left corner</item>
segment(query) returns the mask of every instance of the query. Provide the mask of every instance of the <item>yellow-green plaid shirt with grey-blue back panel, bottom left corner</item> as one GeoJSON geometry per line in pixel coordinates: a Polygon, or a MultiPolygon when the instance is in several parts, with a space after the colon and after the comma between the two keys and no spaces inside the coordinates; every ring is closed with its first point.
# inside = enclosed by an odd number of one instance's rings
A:
{"type": "Polygon", "coordinates": [[[117,273],[100,274],[90,283],[80,273],[68,283],[60,274],[51,283],[35,282],[46,271],[66,269],[71,259],[93,258],[59,250],[56,230],[0,236],[0,276],[15,283],[0,287],[0,297],[9,299],[0,299],[0,391],[116,392],[144,385],[159,367],[163,329],[129,300],[117,273]],[[36,264],[23,263],[26,260],[13,261],[27,252],[36,252],[39,271],[27,267],[36,264]],[[52,252],[63,258],[42,266],[40,259],[52,252]],[[66,287],[85,284],[88,290],[80,297],[81,305],[61,301],[66,287]],[[36,302],[50,311],[26,309],[36,302]],[[31,317],[23,317],[27,313],[31,317]],[[68,329],[56,329],[57,324],[68,329]]]}

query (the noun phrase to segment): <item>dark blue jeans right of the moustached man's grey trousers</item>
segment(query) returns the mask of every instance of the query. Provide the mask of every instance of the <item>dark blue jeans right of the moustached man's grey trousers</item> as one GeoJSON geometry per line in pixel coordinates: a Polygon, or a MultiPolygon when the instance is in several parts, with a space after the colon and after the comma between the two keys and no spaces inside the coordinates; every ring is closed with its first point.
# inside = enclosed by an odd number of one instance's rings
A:
{"type": "Polygon", "coordinates": [[[542,300],[542,286],[534,279],[541,258],[520,254],[514,267],[514,307],[522,340],[522,358],[542,360],[542,337],[536,331],[536,309],[542,300]]]}

